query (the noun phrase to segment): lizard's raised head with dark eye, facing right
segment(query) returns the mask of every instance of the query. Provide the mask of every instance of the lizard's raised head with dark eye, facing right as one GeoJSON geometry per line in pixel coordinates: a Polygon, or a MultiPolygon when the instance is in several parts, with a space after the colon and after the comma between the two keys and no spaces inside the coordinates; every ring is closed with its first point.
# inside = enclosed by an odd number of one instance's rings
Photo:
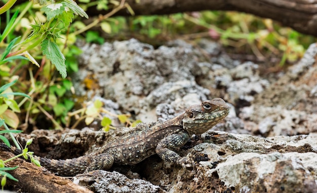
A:
{"type": "Polygon", "coordinates": [[[220,98],[190,106],[184,113],[183,128],[192,134],[202,134],[229,114],[229,106],[220,98]]]}

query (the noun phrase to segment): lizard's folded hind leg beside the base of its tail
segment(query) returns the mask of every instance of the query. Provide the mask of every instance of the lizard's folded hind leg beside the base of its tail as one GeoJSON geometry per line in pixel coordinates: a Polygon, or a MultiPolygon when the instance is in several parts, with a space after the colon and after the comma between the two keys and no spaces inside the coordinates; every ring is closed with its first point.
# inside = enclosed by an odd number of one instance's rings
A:
{"type": "Polygon", "coordinates": [[[93,170],[108,170],[113,164],[113,156],[106,153],[96,155],[91,159],[91,163],[85,170],[85,173],[93,170]]]}

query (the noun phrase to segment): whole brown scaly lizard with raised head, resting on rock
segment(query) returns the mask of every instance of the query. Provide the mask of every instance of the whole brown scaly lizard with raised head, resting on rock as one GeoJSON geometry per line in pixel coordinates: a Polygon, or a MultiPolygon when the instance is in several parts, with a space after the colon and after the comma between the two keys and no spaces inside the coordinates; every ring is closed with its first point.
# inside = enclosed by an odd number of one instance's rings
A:
{"type": "MultiPolygon", "coordinates": [[[[108,170],[113,163],[137,164],[157,154],[165,162],[179,165],[188,163],[175,151],[182,147],[192,134],[202,134],[211,129],[229,113],[229,106],[220,98],[192,105],[184,113],[165,122],[138,124],[135,131],[112,141],[98,151],[81,157],[54,160],[34,156],[41,166],[60,176],[74,176],[93,170],[108,170]]],[[[1,144],[0,148],[6,146],[1,144]]],[[[17,149],[7,148],[14,154],[17,149]],[[14,149],[14,150],[13,150],[14,149]]]]}

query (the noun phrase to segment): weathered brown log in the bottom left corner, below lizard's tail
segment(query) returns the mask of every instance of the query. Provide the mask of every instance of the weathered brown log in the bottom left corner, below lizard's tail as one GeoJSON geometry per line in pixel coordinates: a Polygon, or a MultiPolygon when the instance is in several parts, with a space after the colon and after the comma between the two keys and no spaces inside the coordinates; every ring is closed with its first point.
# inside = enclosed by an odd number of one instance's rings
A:
{"type": "MultiPolygon", "coordinates": [[[[14,155],[9,152],[0,152],[0,158],[7,160],[14,155]]],[[[74,184],[67,178],[55,176],[42,167],[37,167],[23,159],[15,159],[6,164],[7,167],[19,166],[15,170],[8,171],[19,181],[7,178],[5,188],[11,187],[21,192],[92,192],[87,188],[74,184]]],[[[10,189],[11,189],[10,188],[10,189]]]]}

